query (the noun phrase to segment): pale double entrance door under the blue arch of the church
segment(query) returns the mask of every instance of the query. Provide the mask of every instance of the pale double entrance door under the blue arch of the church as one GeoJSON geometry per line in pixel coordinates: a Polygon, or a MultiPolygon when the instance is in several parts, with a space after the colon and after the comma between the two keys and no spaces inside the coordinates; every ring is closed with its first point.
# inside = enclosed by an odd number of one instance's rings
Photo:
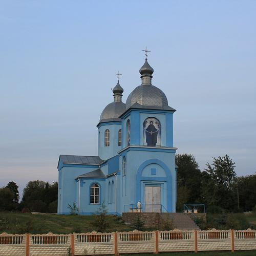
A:
{"type": "Polygon", "coordinates": [[[145,186],[145,212],[161,212],[161,187],[145,186]]]}

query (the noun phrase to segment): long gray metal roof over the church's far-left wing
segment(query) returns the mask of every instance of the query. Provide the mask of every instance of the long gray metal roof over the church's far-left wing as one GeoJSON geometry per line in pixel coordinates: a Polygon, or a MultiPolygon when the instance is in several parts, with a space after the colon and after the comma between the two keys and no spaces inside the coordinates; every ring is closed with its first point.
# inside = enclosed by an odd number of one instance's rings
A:
{"type": "Polygon", "coordinates": [[[62,163],[68,164],[95,164],[99,165],[104,162],[97,156],[72,156],[72,155],[60,155],[59,159],[62,163]]]}

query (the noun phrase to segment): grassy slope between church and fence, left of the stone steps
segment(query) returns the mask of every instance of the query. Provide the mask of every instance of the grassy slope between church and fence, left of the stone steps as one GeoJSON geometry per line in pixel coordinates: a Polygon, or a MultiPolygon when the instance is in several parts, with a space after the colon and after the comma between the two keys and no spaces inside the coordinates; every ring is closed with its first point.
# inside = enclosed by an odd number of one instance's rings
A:
{"type": "MultiPolygon", "coordinates": [[[[107,232],[131,231],[134,228],[123,224],[119,218],[108,216],[110,227],[107,232]]],[[[0,212],[0,233],[73,233],[95,230],[93,216],[31,215],[14,212],[0,212]]]]}

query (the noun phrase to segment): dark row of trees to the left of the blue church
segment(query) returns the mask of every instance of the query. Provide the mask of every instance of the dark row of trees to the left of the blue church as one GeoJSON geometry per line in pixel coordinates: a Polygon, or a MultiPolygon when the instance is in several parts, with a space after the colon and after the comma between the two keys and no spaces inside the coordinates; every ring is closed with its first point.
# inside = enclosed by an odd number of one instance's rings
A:
{"type": "Polygon", "coordinates": [[[23,197],[19,202],[18,186],[10,181],[0,188],[0,210],[23,212],[57,212],[58,183],[35,180],[29,181],[23,189],[23,197]]]}

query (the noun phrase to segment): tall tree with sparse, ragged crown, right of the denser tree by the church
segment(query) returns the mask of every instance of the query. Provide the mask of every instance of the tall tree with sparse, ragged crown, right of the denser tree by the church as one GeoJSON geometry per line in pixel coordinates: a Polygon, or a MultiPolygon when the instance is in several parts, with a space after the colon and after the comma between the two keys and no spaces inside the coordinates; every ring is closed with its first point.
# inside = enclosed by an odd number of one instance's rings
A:
{"type": "Polygon", "coordinates": [[[236,167],[228,155],[212,158],[203,173],[203,195],[207,205],[215,205],[231,211],[234,208],[232,184],[236,178],[236,167]]]}

